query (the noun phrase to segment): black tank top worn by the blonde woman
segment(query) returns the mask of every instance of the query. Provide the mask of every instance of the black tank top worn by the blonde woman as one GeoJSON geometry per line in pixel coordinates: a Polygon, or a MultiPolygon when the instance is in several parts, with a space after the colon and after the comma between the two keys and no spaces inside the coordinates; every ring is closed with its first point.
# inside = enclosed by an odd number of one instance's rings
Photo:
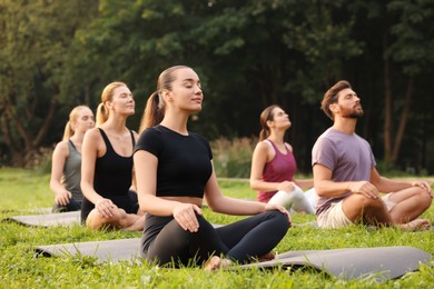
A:
{"type": "MultiPolygon", "coordinates": [[[[110,199],[116,206],[122,208],[126,212],[137,212],[137,205],[131,201],[128,193],[132,181],[132,156],[122,157],[116,153],[106,132],[98,128],[106,143],[106,153],[97,158],[95,163],[93,189],[101,197],[110,199]]],[[[132,131],[132,147],[136,140],[132,131]]],[[[81,206],[81,221],[85,222],[95,205],[83,198],[81,206]]]]}

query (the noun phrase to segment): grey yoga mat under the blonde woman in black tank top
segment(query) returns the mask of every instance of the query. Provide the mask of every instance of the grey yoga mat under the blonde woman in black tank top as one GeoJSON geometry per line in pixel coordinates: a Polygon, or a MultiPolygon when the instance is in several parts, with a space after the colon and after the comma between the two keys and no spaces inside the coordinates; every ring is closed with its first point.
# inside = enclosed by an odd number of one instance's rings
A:
{"type": "Polygon", "coordinates": [[[80,211],[12,216],[3,219],[3,221],[14,221],[34,227],[72,226],[80,223],[80,211]]]}

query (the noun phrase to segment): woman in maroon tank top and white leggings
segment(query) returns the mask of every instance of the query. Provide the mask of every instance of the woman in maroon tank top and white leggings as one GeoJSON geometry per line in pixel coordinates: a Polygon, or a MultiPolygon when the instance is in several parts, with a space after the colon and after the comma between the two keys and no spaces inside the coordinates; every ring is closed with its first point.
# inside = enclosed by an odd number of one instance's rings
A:
{"type": "Polygon", "coordinates": [[[314,187],[314,181],[294,179],[297,163],[293,147],[284,140],[292,126],[288,113],[278,106],[269,106],[260,113],[259,121],[262,130],[250,171],[250,188],[258,191],[258,201],[315,215],[315,192],[302,190],[314,187]]]}

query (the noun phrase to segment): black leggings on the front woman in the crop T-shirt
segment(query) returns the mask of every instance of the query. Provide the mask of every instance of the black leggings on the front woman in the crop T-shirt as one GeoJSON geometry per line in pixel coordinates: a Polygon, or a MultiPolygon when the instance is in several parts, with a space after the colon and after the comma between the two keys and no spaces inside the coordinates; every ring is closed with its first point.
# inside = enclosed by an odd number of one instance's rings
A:
{"type": "Polygon", "coordinates": [[[172,217],[147,215],[141,239],[141,257],[158,265],[199,265],[211,255],[224,255],[239,263],[266,255],[289,228],[280,211],[266,211],[244,220],[214,228],[196,215],[199,230],[184,230],[172,217]]]}

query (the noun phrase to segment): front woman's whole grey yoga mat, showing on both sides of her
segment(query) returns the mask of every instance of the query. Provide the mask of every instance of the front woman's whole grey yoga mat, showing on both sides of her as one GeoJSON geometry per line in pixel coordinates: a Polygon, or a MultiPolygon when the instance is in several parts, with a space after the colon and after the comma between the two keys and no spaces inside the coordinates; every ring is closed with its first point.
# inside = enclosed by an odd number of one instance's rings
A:
{"type": "MultiPolygon", "coordinates": [[[[140,238],[95,242],[39,246],[36,256],[91,256],[99,261],[140,260],[140,238]]],[[[426,263],[431,255],[413,247],[345,248],[331,250],[288,251],[276,256],[275,260],[243,265],[229,270],[260,268],[286,270],[289,268],[312,268],[342,279],[374,278],[386,281],[415,271],[426,263]]]]}

